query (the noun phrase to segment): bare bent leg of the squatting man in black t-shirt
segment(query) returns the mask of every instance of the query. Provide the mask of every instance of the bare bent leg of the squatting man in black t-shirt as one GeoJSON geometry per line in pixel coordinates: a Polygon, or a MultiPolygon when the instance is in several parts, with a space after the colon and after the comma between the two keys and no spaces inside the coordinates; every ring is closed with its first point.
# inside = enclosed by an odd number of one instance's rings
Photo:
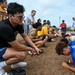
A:
{"type": "Polygon", "coordinates": [[[17,51],[13,48],[7,48],[3,58],[7,65],[15,64],[25,59],[26,55],[24,51],[17,51]]]}

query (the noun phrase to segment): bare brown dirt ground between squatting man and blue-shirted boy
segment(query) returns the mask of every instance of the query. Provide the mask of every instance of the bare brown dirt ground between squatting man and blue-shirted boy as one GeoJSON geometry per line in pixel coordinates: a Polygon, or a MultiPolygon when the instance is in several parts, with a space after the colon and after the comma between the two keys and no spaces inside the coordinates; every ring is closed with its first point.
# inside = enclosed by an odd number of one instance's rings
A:
{"type": "Polygon", "coordinates": [[[56,38],[55,42],[47,42],[47,48],[44,48],[44,53],[39,56],[27,54],[25,61],[28,65],[25,67],[26,75],[75,75],[75,73],[62,68],[61,64],[64,60],[71,59],[71,56],[58,56],[55,53],[55,45],[59,41],[56,38]]]}

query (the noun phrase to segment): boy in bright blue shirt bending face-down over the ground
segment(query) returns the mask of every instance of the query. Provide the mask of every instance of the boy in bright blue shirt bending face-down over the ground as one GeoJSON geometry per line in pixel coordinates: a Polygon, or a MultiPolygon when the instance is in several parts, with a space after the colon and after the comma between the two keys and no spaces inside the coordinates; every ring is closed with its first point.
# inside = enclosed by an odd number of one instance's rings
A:
{"type": "Polygon", "coordinates": [[[69,56],[71,55],[71,58],[73,60],[74,67],[71,67],[67,62],[62,62],[62,66],[68,70],[71,70],[75,72],[75,45],[69,46],[68,44],[64,42],[58,42],[55,47],[56,53],[58,55],[65,55],[69,56]]]}

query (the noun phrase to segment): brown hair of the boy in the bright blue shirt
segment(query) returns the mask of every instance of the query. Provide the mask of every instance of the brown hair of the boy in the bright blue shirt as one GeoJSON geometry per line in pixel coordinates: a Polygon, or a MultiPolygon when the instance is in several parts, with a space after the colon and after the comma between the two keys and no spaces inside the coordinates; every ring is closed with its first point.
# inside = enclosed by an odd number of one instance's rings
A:
{"type": "Polygon", "coordinates": [[[58,42],[55,47],[56,53],[58,55],[61,55],[63,53],[63,49],[66,48],[67,46],[68,45],[64,42],[58,42]]]}

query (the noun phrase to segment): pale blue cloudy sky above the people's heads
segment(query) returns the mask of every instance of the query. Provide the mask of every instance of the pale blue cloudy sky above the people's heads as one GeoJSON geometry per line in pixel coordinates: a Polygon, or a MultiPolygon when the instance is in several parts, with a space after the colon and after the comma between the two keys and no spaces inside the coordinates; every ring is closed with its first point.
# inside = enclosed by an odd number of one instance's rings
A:
{"type": "Polygon", "coordinates": [[[65,20],[67,27],[72,26],[72,17],[75,17],[75,0],[7,0],[17,2],[25,7],[25,16],[36,10],[35,20],[38,18],[50,20],[51,26],[59,27],[62,20],[65,20]]]}

